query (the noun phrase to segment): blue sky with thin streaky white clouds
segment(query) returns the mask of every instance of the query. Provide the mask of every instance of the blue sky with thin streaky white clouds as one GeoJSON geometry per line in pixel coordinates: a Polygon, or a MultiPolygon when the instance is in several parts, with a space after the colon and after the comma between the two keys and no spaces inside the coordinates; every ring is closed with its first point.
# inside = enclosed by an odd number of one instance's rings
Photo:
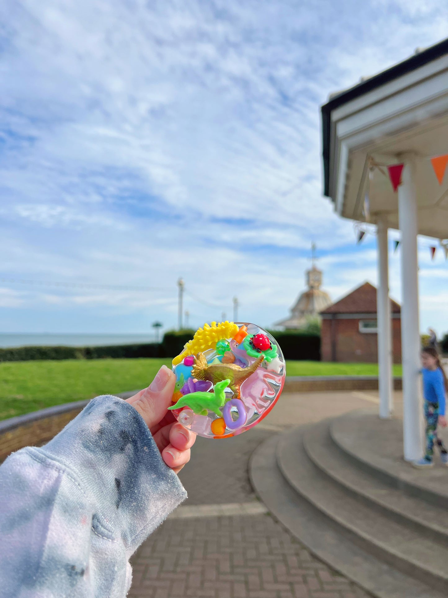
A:
{"type": "MultiPolygon", "coordinates": [[[[375,237],[356,245],[322,194],[320,105],[447,29],[436,0],[4,0],[0,332],[173,328],[180,276],[190,325],[237,296],[269,327],[312,242],[333,299],[375,284],[375,237]]],[[[441,334],[430,244],[421,328],[441,334]]]]}

